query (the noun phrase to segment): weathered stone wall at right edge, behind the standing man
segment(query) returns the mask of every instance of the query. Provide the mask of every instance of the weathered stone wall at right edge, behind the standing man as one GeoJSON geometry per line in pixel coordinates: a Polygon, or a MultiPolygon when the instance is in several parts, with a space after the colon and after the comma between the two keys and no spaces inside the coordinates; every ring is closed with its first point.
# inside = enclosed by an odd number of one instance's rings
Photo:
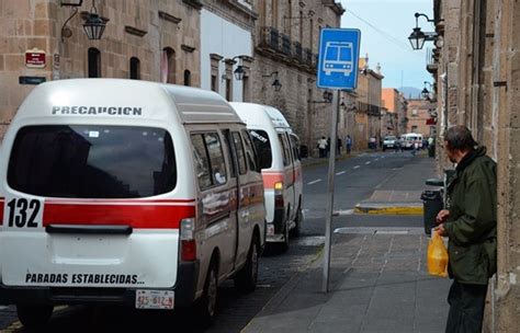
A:
{"type": "MultiPolygon", "coordinates": [[[[429,69],[438,84],[438,141],[446,128],[464,124],[498,164],[498,274],[484,331],[518,332],[520,2],[434,0],[433,9],[438,49],[429,69]]],[[[439,166],[452,166],[443,153],[439,166]]]]}

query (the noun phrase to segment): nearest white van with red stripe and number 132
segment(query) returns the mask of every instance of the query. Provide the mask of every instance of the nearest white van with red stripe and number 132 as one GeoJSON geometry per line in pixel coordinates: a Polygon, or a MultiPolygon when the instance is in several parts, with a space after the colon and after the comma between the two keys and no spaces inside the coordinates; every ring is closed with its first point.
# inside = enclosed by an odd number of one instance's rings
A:
{"type": "Polygon", "coordinates": [[[255,289],[260,169],[218,94],[136,80],[43,83],[0,154],[0,294],[26,326],[55,305],[173,309],[211,322],[217,286],[255,289]]]}

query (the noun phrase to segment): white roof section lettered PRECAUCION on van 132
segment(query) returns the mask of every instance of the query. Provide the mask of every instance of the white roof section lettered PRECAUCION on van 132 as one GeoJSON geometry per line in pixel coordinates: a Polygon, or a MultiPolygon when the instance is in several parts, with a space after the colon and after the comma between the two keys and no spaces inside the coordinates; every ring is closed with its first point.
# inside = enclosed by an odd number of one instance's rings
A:
{"type": "Polygon", "coordinates": [[[226,100],[215,92],[124,79],[71,79],[42,83],[22,103],[13,122],[53,115],[242,123],[226,100]]]}

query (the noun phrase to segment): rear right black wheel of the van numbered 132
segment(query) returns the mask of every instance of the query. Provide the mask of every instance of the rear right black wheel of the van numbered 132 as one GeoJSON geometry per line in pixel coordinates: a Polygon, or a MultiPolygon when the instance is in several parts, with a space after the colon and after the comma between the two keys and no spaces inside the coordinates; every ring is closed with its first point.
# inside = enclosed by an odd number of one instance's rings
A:
{"type": "Polygon", "coordinates": [[[200,322],[204,328],[210,326],[215,319],[217,303],[218,275],[216,262],[213,260],[207,269],[206,282],[204,283],[204,291],[196,305],[196,312],[200,322]]]}

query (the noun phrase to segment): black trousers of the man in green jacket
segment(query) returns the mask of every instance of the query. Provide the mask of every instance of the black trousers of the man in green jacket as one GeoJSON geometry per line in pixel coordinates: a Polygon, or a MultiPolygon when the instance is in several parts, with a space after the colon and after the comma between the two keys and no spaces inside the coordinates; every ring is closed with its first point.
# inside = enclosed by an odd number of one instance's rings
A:
{"type": "Polygon", "coordinates": [[[446,333],[481,333],[487,285],[467,285],[453,280],[448,303],[446,333]]]}

